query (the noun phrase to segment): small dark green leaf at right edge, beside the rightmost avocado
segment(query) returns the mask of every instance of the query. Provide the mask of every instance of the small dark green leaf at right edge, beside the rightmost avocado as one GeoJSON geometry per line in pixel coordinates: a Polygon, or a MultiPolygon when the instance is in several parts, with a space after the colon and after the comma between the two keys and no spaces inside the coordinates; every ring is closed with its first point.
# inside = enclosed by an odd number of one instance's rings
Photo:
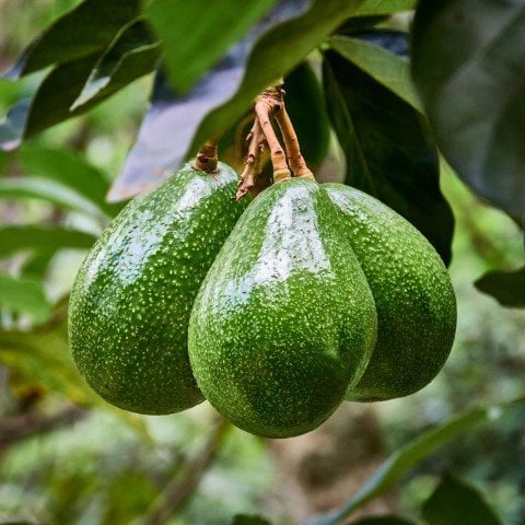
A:
{"type": "Polygon", "coordinates": [[[525,307],[525,267],[516,271],[489,271],[475,285],[492,295],[502,306],[525,307]]]}

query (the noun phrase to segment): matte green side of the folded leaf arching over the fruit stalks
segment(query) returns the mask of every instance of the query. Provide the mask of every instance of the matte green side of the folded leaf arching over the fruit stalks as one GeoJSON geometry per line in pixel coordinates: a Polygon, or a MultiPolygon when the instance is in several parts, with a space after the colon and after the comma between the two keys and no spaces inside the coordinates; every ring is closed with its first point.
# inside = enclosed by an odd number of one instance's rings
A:
{"type": "Polygon", "coordinates": [[[189,151],[197,151],[208,138],[223,133],[264,89],[300,63],[351,16],[360,3],[361,0],[316,0],[306,13],[262,35],[254,46],[236,94],[207,115],[189,151]]]}

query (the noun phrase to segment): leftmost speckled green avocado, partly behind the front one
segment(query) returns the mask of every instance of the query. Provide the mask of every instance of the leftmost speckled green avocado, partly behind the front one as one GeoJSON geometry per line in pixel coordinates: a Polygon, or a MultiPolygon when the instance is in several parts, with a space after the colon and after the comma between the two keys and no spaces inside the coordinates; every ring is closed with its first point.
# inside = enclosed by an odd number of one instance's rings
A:
{"type": "Polygon", "coordinates": [[[70,299],[69,338],[91,387],[117,407],[171,413],[203,400],[187,326],[197,291],[246,207],[236,173],[189,164],[132,200],[83,262],[70,299]]]}

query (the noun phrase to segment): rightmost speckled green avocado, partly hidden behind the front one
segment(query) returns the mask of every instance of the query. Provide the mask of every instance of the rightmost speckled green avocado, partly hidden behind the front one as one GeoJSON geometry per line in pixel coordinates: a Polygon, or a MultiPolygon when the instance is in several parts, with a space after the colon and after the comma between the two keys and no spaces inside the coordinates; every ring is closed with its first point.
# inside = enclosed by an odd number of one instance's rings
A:
{"type": "Polygon", "coordinates": [[[440,256],[408,221],[349,186],[323,187],[339,208],[377,308],[377,343],[347,399],[412,394],[445,363],[456,329],[456,299],[440,256]]]}

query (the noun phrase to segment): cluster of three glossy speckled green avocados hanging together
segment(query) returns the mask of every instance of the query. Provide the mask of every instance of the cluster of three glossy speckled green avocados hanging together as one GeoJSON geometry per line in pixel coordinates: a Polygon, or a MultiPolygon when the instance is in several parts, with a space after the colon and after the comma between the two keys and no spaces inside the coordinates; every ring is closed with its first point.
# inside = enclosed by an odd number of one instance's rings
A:
{"type": "Polygon", "coordinates": [[[345,400],[419,390],[445,363],[456,302],[405,219],[357,189],[292,178],[249,205],[233,170],[187,165],[131,201],[70,300],[74,362],[107,401],[170,413],[205,398],[288,438],[345,400]]]}

